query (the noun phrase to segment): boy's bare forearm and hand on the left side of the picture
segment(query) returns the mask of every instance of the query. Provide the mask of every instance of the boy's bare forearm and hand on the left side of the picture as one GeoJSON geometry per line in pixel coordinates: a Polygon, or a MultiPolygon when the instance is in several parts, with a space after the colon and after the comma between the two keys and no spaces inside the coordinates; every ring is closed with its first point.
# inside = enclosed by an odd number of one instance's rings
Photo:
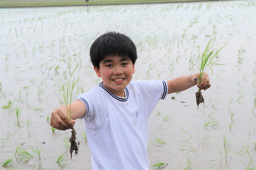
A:
{"type": "Polygon", "coordinates": [[[71,105],[59,106],[54,109],[50,119],[50,125],[59,130],[67,130],[72,128],[76,123],[74,120],[84,117],[86,107],[80,100],[76,100],[71,105]],[[71,108],[70,108],[71,106],[71,108]],[[68,114],[67,114],[68,110],[68,114]],[[71,121],[69,119],[69,111],[71,112],[71,121]]]}

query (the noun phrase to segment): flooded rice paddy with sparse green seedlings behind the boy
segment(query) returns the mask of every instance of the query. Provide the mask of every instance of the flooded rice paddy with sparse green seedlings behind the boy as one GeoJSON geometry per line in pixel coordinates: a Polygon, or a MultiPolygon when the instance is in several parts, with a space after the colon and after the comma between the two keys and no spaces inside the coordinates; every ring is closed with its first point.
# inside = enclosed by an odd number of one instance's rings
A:
{"type": "Polygon", "coordinates": [[[169,80],[198,72],[210,39],[227,44],[212,66],[212,87],[168,95],[149,118],[150,169],[256,169],[255,1],[1,9],[0,169],[91,169],[84,123],[76,120],[78,156],[70,160],[71,130],[51,128],[51,112],[101,81],[90,45],[107,31],[136,44],[133,80],[169,80]],[[70,64],[69,64],[70,63],[70,64]],[[76,67],[76,69],[75,69],[76,67]],[[75,69],[74,73],[72,71],[75,69]],[[73,76],[72,76],[73,75],[73,76]]]}

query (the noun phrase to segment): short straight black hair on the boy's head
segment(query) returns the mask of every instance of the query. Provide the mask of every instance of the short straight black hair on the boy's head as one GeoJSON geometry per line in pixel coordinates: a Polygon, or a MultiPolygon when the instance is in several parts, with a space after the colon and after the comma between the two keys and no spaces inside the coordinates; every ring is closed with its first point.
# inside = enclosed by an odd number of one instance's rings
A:
{"type": "Polygon", "coordinates": [[[119,55],[128,57],[135,64],[137,59],[136,46],[132,40],[120,33],[107,32],[99,36],[90,48],[90,58],[92,65],[100,68],[100,62],[107,56],[119,55]]]}

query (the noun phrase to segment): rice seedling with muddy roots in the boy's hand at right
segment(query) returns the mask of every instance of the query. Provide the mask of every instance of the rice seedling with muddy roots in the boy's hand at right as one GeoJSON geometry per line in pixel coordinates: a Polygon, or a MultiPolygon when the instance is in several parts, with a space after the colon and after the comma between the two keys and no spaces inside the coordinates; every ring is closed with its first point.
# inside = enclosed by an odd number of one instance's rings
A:
{"type": "MultiPolygon", "coordinates": [[[[215,40],[215,38],[214,38],[215,40]]],[[[214,43],[214,40],[212,43],[214,43]]],[[[207,67],[210,67],[211,71],[212,71],[212,65],[223,65],[223,64],[219,64],[217,63],[219,60],[214,61],[214,58],[218,55],[218,53],[220,52],[221,49],[223,49],[227,44],[225,44],[224,46],[216,49],[213,49],[214,45],[210,45],[210,42],[212,41],[212,39],[210,39],[210,41],[208,42],[205,50],[202,53],[201,56],[201,65],[200,68],[198,67],[199,70],[199,76],[198,76],[198,83],[200,84],[202,82],[202,80],[204,79],[204,71],[207,69],[207,67]],[[209,46],[210,45],[210,46],[209,46]],[[215,52],[214,52],[215,51],[215,52]]],[[[198,48],[198,53],[199,53],[199,48],[198,48]]],[[[213,74],[213,71],[212,71],[213,74]]],[[[201,93],[201,89],[200,87],[198,88],[198,91],[196,92],[196,104],[197,104],[197,108],[199,107],[200,103],[204,103],[204,97],[202,96],[201,93]]]]}

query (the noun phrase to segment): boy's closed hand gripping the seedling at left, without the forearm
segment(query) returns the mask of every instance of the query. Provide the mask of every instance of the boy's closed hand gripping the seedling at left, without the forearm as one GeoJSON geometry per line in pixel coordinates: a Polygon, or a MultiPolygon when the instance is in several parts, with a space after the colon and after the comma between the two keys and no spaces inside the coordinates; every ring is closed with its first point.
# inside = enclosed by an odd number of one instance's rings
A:
{"type": "Polygon", "coordinates": [[[62,107],[57,107],[51,115],[50,125],[58,130],[67,130],[74,127],[76,122],[68,118],[67,110],[62,107]]]}

